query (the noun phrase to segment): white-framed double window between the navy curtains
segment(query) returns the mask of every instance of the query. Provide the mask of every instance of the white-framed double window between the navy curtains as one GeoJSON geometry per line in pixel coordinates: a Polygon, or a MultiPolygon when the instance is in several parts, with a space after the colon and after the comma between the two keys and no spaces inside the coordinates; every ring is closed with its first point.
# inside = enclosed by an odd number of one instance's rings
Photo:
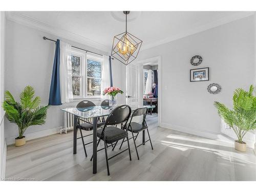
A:
{"type": "Polygon", "coordinates": [[[102,57],[83,52],[70,52],[72,63],[72,89],[74,98],[99,97],[101,94],[102,57]]]}

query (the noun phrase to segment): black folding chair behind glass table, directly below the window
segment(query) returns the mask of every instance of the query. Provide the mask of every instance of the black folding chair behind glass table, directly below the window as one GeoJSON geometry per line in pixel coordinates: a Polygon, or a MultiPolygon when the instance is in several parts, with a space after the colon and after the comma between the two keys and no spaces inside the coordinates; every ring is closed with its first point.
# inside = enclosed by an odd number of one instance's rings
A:
{"type": "MultiPolygon", "coordinates": [[[[76,105],[76,108],[80,108],[82,110],[82,108],[90,108],[91,107],[93,109],[94,106],[95,106],[95,104],[93,102],[88,101],[88,100],[84,100],[84,101],[79,102],[76,105]]],[[[83,150],[84,150],[84,153],[86,154],[86,157],[87,157],[86,145],[92,143],[93,141],[91,141],[89,143],[84,143],[83,138],[91,136],[93,134],[89,134],[89,135],[83,136],[82,135],[82,130],[84,130],[84,131],[91,131],[91,130],[93,130],[93,124],[88,119],[81,119],[81,118],[77,118],[77,119],[78,119],[78,121],[77,121],[77,129],[79,129],[80,135],[81,135],[81,137],[78,137],[77,139],[82,139],[83,150]],[[80,121],[82,121],[83,123],[80,123],[80,121]]],[[[103,125],[104,125],[103,122],[98,123],[98,127],[101,127],[103,125]]]]}

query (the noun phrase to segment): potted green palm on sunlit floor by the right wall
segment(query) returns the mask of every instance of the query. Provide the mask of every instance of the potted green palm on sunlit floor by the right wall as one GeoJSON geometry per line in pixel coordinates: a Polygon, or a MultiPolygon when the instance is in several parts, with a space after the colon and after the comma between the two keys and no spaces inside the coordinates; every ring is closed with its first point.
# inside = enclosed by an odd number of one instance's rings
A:
{"type": "Polygon", "coordinates": [[[237,135],[234,148],[238,151],[246,151],[246,143],[243,137],[249,130],[256,129],[256,97],[253,95],[254,87],[251,85],[249,91],[241,88],[236,89],[233,94],[233,110],[229,110],[224,104],[215,101],[218,114],[237,135]]]}

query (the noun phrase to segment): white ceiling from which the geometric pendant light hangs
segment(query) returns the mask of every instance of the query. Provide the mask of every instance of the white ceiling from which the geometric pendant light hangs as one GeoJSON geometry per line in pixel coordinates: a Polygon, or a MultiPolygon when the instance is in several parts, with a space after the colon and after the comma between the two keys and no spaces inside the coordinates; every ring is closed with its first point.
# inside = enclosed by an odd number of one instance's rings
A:
{"type": "MultiPolygon", "coordinates": [[[[143,40],[147,49],[237,20],[254,12],[169,11],[131,12],[127,31],[143,40]]],[[[124,14],[111,11],[8,12],[15,22],[111,51],[113,36],[125,31],[124,14]]]]}

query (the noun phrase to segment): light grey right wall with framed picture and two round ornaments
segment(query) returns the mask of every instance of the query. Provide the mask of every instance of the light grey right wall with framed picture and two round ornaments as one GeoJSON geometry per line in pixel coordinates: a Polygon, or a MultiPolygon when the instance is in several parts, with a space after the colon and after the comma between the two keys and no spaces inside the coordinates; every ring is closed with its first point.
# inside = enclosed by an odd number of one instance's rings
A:
{"type": "Polygon", "coordinates": [[[162,60],[161,125],[216,138],[223,130],[214,101],[231,108],[234,89],[254,84],[254,17],[143,50],[138,60],[156,56],[162,60]],[[200,66],[190,65],[194,55],[203,57],[200,66]],[[189,70],[204,67],[209,67],[209,81],[189,82],[189,70]],[[220,94],[207,92],[214,82],[222,87],[220,94]]]}

